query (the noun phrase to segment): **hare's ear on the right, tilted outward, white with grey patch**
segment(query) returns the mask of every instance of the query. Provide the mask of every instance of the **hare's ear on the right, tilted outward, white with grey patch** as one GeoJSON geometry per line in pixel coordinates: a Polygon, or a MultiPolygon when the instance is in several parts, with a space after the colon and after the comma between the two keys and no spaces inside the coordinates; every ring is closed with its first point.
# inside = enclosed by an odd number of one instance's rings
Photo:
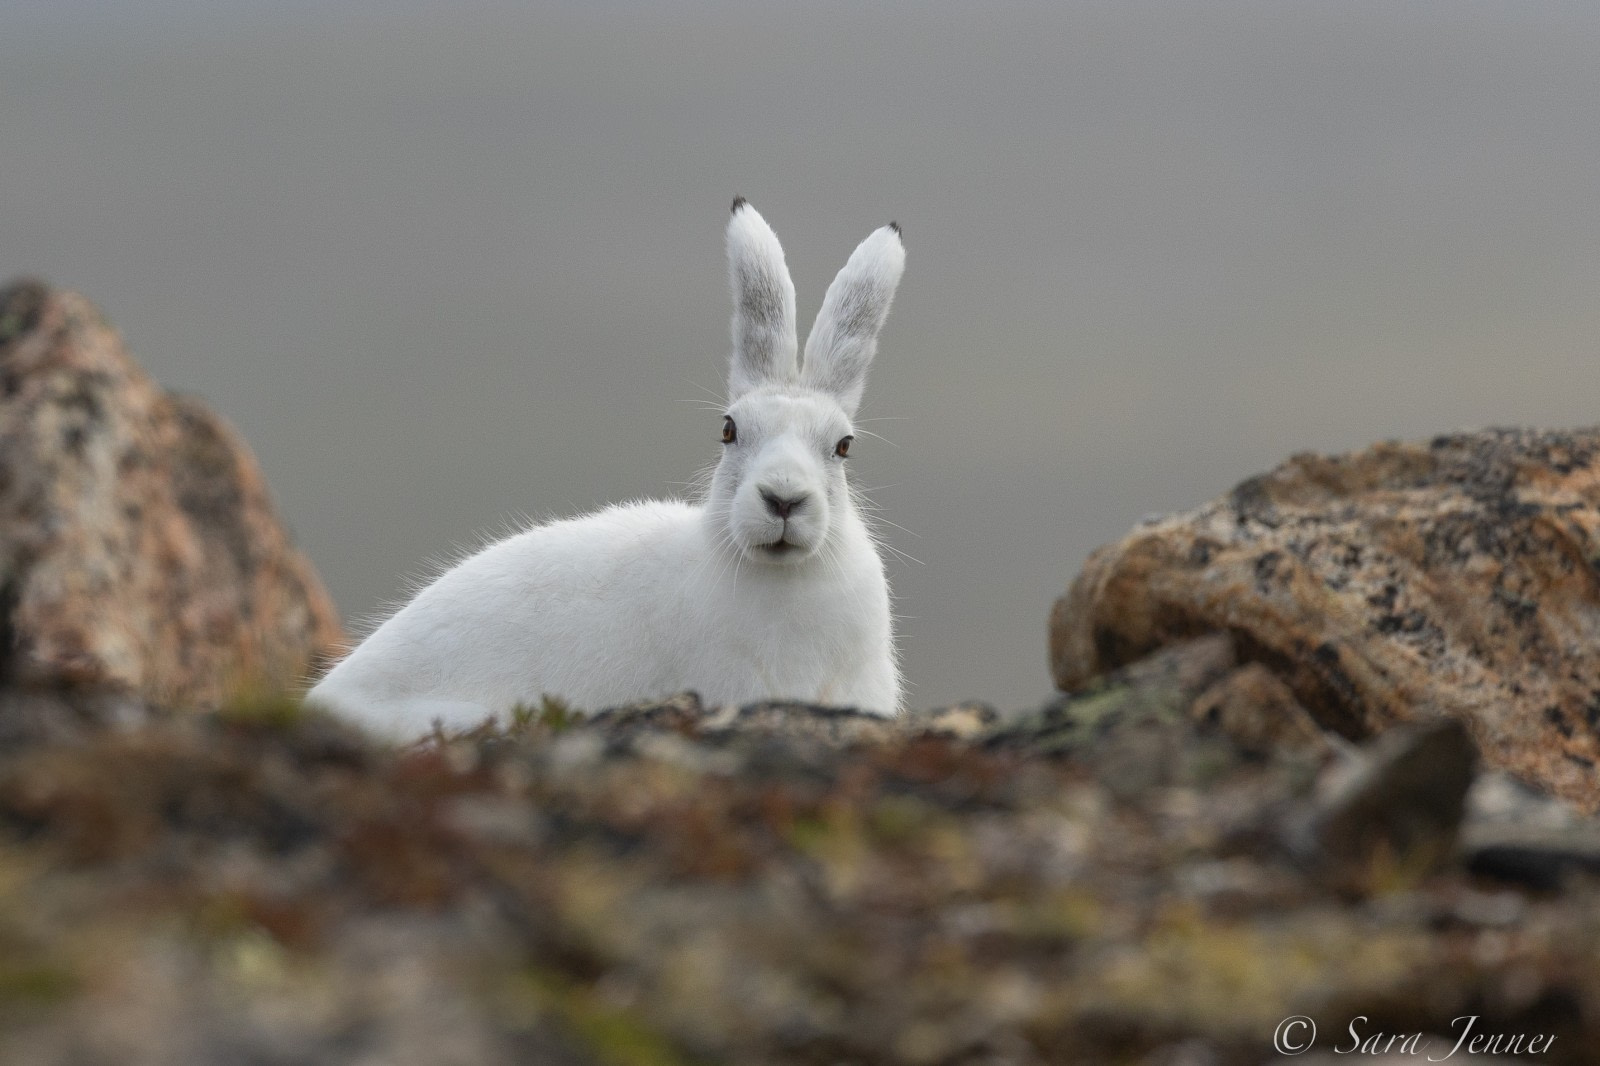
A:
{"type": "Polygon", "coordinates": [[[861,242],[827,287],[816,325],[805,343],[800,384],[830,392],[854,416],[867,384],[867,365],[878,351],[894,288],[906,271],[899,226],[890,222],[861,242]]]}

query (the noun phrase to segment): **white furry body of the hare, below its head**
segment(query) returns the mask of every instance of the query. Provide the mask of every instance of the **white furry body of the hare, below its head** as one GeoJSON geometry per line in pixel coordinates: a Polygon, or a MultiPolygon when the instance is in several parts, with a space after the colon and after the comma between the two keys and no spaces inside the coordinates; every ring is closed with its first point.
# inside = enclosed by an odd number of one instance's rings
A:
{"type": "MultiPolygon", "coordinates": [[[[840,536],[870,549],[851,517],[840,536]]],[[[397,736],[475,725],[541,693],[587,711],[686,688],[707,704],[898,707],[875,554],[842,546],[856,565],[813,576],[720,559],[712,536],[699,507],[662,501],[518,533],[422,589],[315,698],[397,736]],[[578,551],[600,565],[574,571],[578,551]]]]}

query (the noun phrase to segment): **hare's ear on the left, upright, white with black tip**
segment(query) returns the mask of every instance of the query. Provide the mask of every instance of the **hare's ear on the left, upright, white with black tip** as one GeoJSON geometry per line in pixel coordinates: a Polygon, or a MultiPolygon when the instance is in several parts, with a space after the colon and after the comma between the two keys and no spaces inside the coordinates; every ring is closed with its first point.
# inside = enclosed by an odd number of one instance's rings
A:
{"type": "Polygon", "coordinates": [[[778,234],[744,197],[728,219],[728,279],[733,282],[733,365],[728,399],[766,383],[792,383],[795,285],[778,234]]]}

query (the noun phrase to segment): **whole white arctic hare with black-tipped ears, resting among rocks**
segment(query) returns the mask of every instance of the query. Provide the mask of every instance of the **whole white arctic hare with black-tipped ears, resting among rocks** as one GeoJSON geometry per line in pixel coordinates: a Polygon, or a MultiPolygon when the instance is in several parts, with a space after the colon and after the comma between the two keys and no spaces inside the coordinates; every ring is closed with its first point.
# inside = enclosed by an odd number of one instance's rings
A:
{"type": "Polygon", "coordinates": [[[797,363],[782,246],[728,221],[733,360],[702,503],[539,525],[466,559],[336,664],[307,701],[394,738],[474,727],[549,693],[602,707],[696,690],[899,711],[890,589],[845,456],[906,267],[893,222],[850,256],[797,363]]]}

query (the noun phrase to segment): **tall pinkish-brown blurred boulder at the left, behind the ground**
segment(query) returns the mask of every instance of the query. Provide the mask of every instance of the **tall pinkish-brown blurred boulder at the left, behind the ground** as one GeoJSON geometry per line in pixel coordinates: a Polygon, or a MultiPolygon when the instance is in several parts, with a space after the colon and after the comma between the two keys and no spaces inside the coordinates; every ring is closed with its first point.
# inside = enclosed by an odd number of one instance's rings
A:
{"type": "Polygon", "coordinates": [[[341,642],[243,442],[77,293],[0,291],[0,687],[218,706],[341,642]]]}

